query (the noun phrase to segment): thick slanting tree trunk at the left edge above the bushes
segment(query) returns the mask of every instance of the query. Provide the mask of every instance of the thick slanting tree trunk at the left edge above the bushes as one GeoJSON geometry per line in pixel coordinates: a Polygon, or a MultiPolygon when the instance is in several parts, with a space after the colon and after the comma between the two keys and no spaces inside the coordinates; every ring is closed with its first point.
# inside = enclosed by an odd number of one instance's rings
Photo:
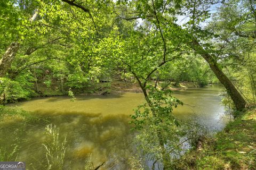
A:
{"type": "Polygon", "coordinates": [[[4,77],[7,70],[10,68],[12,60],[19,49],[19,43],[11,43],[0,60],[0,77],[4,77]]]}

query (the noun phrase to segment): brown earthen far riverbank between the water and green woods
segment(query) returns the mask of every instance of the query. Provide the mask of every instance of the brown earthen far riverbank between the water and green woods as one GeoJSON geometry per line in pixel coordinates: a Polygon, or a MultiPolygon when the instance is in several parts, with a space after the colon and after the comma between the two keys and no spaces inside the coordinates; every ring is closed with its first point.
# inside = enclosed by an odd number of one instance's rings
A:
{"type": "MultiPolygon", "coordinates": [[[[155,86],[155,82],[151,81],[152,86],[155,86]]],[[[184,90],[186,88],[201,87],[196,82],[164,82],[159,81],[156,86],[158,89],[172,91],[184,90]]],[[[46,85],[45,83],[37,83],[35,87],[28,87],[26,91],[5,92],[0,95],[0,104],[16,103],[17,101],[24,101],[34,97],[46,97],[46,96],[67,96],[70,92],[74,95],[106,95],[106,94],[120,94],[124,92],[142,92],[138,83],[125,82],[125,81],[112,81],[112,82],[90,82],[84,84],[81,87],[69,87],[66,84],[60,87],[59,83],[51,83],[46,85]]]]}

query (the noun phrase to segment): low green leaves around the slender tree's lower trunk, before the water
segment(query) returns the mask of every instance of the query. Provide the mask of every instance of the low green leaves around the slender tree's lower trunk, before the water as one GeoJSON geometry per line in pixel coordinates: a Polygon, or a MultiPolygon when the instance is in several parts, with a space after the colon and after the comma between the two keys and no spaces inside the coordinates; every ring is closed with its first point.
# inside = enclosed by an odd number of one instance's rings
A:
{"type": "Polygon", "coordinates": [[[184,133],[172,115],[172,107],[177,107],[182,102],[172,97],[170,90],[161,91],[152,86],[148,86],[147,90],[149,101],[135,110],[131,123],[135,125],[134,130],[139,132],[135,142],[141,154],[149,160],[161,163],[166,154],[180,148],[180,138],[184,133]],[[165,143],[166,151],[163,151],[161,142],[165,143]]]}

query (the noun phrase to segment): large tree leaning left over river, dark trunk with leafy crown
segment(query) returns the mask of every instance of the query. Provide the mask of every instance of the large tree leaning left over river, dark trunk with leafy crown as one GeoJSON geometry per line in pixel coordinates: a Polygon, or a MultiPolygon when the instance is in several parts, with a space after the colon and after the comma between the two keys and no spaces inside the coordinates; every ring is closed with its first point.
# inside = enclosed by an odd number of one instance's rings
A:
{"type": "MultiPolygon", "coordinates": [[[[131,4],[132,3],[133,2],[131,2],[131,4]]],[[[209,11],[207,11],[207,9],[215,3],[212,1],[186,1],[182,4],[180,1],[155,1],[156,5],[154,6],[153,4],[154,1],[134,2],[134,6],[137,10],[135,13],[138,13],[138,15],[125,16],[124,19],[130,20],[142,18],[152,22],[151,18],[155,14],[158,15],[159,24],[169,26],[168,31],[171,32],[170,37],[175,37],[175,39],[180,41],[180,44],[187,45],[188,48],[192,49],[193,52],[191,53],[201,55],[205,61],[209,63],[211,70],[227,89],[237,110],[242,110],[246,105],[246,101],[241,94],[239,94],[238,90],[235,88],[234,84],[231,83],[226,74],[221,70],[217,62],[217,57],[215,56],[216,51],[214,51],[214,47],[210,47],[208,43],[199,43],[199,39],[206,41],[207,38],[210,38],[212,35],[209,31],[203,30],[199,24],[209,18],[209,11]],[[182,5],[185,7],[182,8],[182,5]],[[189,21],[182,24],[183,28],[176,23],[177,17],[180,15],[190,16],[189,21]]]]}

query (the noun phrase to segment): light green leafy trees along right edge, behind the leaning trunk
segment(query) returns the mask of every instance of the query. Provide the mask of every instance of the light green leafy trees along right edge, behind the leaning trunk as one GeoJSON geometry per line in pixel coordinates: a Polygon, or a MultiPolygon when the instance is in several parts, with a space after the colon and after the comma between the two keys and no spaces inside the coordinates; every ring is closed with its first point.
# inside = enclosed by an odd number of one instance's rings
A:
{"type": "Polygon", "coordinates": [[[223,68],[248,103],[255,103],[255,31],[253,1],[225,1],[207,26],[222,50],[223,68]]]}

